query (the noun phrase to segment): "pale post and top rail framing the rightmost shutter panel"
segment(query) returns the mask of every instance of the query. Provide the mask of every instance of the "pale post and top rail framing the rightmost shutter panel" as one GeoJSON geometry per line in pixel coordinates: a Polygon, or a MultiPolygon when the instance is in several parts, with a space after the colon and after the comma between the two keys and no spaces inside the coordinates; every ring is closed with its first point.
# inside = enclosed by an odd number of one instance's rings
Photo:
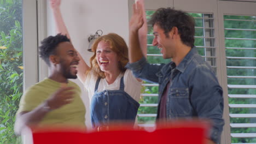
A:
{"type": "Polygon", "coordinates": [[[222,137],[222,143],[229,141],[231,143],[231,132],[230,132],[230,117],[229,117],[229,101],[228,101],[228,79],[226,73],[226,52],[225,52],[225,34],[224,34],[224,15],[256,15],[256,2],[234,2],[234,1],[218,1],[218,26],[219,26],[219,44],[222,49],[220,49],[220,61],[223,62],[220,65],[222,69],[222,75],[220,77],[220,82],[223,83],[223,95],[226,99],[224,101],[224,113],[223,117],[225,120],[224,125],[224,135],[222,137]],[[246,9],[241,9],[246,8],[246,9]],[[253,13],[254,11],[254,13],[253,13]],[[230,140],[226,138],[230,137],[230,140]],[[224,139],[224,140],[223,140],[224,139]]]}

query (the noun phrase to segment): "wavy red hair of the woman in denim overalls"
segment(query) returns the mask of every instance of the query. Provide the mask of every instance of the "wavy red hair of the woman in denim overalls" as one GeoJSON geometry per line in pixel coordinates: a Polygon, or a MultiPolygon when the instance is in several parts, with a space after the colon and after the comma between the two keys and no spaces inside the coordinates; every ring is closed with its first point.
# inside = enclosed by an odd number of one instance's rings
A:
{"type": "Polygon", "coordinates": [[[92,52],[94,52],[94,55],[90,58],[91,67],[86,71],[85,75],[88,75],[91,72],[91,74],[96,77],[105,78],[104,71],[101,71],[96,59],[97,46],[98,43],[100,43],[100,41],[102,40],[105,43],[109,43],[110,49],[117,53],[117,56],[119,57],[119,70],[121,71],[121,73],[124,73],[126,70],[125,65],[129,62],[128,47],[125,43],[125,40],[120,37],[120,35],[115,33],[109,33],[97,38],[94,41],[94,44],[92,44],[92,52]]]}

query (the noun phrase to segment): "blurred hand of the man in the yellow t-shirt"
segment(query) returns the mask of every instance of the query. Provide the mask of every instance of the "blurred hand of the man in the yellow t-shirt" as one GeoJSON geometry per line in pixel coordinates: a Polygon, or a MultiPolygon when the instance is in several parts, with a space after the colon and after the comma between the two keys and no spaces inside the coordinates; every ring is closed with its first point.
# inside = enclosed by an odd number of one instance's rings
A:
{"type": "Polygon", "coordinates": [[[73,101],[74,92],[71,91],[74,87],[61,87],[51,97],[46,100],[47,105],[51,110],[59,109],[61,106],[69,104],[73,101]]]}

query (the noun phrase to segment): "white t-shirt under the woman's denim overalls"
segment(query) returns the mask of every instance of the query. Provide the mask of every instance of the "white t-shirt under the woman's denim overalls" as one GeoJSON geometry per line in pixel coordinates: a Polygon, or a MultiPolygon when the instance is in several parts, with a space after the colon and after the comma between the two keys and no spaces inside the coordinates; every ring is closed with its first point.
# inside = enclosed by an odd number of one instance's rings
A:
{"type": "MultiPolygon", "coordinates": [[[[101,79],[100,83],[98,84],[98,92],[102,92],[104,90],[118,90],[120,88],[120,80],[121,77],[124,75],[124,91],[128,93],[133,99],[139,101],[141,95],[141,84],[133,75],[132,71],[127,69],[124,74],[120,74],[117,79],[110,85],[106,79],[101,79]]],[[[97,81],[97,77],[95,76],[87,76],[84,81],[84,87],[89,94],[89,99],[91,103],[91,99],[94,96],[95,85],[97,81]]]]}

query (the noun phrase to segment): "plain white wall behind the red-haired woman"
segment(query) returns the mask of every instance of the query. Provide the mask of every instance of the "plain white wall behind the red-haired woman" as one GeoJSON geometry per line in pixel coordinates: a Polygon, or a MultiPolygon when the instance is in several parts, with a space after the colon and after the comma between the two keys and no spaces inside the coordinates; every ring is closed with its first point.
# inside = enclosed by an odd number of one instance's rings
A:
{"type": "MultiPolygon", "coordinates": [[[[114,32],[119,34],[128,42],[129,38],[129,17],[127,0],[62,0],[61,12],[63,19],[71,35],[72,43],[85,62],[89,64],[92,56],[87,51],[88,37],[95,34],[98,29],[103,34],[114,32]]],[[[55,35],[53,15],[48,4],[48,35],[55,35]]],[[[82,89],[82,97],[86,106],[86,125],[90,127],[89,98],[84,92],[82,83],[74,80],[82,89]]]]}

